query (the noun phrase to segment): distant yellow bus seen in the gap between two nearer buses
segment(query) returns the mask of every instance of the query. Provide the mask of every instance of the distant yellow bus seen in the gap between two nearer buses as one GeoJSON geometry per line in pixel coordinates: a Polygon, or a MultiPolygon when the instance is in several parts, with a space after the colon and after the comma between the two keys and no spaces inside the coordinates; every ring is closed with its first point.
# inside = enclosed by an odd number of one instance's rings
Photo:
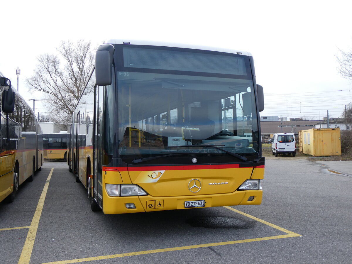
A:
{"type": "Polygon", "coordinates": [[[67,131],[43,134],[44,159],[67,159],[67,131]]]}

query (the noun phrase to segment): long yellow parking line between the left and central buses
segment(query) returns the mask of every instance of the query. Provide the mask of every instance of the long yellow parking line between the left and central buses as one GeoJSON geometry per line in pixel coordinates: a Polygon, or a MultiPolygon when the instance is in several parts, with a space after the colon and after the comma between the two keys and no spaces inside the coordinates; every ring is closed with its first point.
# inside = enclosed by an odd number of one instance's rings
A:
{"type": "Polygon", "coordinates": [[[29,263],[29,260],[31,259],[34,240],[36,239],[36,235],[37,235],[39,219],[40,219],[40,215],[42,214],[44,200],[45,200],[46,192],[48,191],[49,182],[50,182],[50,178],[51,178],[53,170],[54,170],[54,168],[51,169],[49,176],[46,179],[44,189],[42,191],[42,195],[40,195],[37,209],[36,209],[36,212],[34,213],[34,216],[33,216],[32,222],[31,222],[31,226],[28,230],[27,238],[24,243],[20,259],[18,261],[19,264],[27,264],[27,263],[29,263]]]}

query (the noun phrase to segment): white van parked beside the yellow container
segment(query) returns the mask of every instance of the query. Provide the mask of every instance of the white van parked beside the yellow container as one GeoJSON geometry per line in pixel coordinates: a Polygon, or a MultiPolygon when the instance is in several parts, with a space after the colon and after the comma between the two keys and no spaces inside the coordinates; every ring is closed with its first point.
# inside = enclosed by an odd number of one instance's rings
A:
{"type": "Polygon", "coordinates": [[[291,154],[296,156],[296,139],[294,133],[276,133],[272,137],[272,155],[291,154]]]}

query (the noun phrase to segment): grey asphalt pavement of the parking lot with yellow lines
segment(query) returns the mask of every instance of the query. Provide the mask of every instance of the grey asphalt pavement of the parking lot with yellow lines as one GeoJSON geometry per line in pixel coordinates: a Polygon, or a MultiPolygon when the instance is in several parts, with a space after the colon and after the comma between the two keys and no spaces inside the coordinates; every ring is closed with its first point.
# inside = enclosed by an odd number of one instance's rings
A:
{"type": "Polygon", "coordinates": [[[350,168],[272,156],[261,205],[104,215],[65,162],[45,162],[0,203],[0,263],[349,264],[350,168]]]}

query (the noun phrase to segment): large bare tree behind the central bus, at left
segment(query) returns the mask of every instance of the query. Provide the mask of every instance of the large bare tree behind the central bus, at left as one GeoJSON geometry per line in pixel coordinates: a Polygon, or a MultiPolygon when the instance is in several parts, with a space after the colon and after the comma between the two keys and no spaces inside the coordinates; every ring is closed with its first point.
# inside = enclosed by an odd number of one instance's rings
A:
{"type": "Polygon", "coordinates": [[[30,91],[42,93],[54,122],[67,122],[93,69],[94,53],[90,41],[81,39],[76,44],[62,41],[57,51],[64,65],[58,56],[42,54],[34,75],[26,78],[26,83],[30,91]]]}

